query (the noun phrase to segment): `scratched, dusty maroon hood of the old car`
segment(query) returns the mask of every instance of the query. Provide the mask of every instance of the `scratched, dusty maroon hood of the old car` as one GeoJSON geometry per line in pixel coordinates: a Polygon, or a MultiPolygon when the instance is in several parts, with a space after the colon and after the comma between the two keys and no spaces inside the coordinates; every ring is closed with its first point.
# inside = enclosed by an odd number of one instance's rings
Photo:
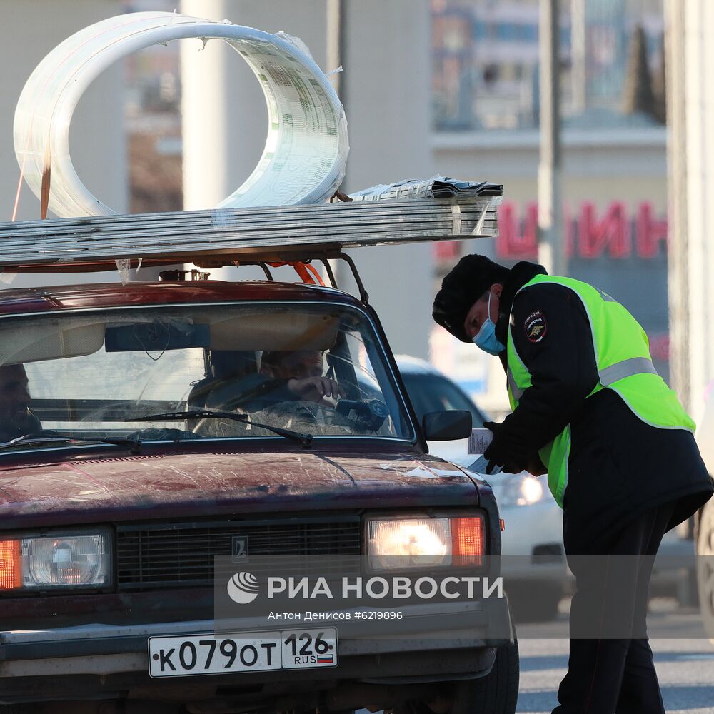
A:
{"type": "Polygon", "coordinates": [[[478,504],[476,481],[427,454],[146,454],[0,467],[2,528],[176,516],[478,504]]]}

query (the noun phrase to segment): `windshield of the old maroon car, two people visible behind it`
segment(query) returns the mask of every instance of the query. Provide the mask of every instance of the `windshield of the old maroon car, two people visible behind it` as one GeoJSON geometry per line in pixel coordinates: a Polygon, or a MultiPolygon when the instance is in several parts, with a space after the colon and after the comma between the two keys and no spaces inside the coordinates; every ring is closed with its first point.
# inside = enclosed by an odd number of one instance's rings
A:
{"type": "MultiPolygon", "coordinates": [[[[413,441],[387,365],[368,317],[349,306],[271,301],[4,318],[0,442],[285,436],[270,428],[413,441]],[[164,418],[134,421],[151,415],[164,418]]],[[[66,441],[10,448],[29,445],[66,441]]]]}

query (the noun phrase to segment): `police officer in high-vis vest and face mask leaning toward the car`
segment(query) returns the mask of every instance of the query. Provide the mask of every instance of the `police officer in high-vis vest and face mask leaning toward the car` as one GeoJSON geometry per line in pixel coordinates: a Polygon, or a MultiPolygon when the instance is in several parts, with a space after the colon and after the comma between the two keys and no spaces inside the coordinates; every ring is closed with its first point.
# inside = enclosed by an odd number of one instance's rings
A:
{"type": "Polygon", "coordinates": [[[643,328],[588,283],[476,255],[443,279],[433,317],[506,368],[513,411],[484,425],[486,471],[547,471],[563,508],[576,593],[554,714],[663,714],[645,625],[652,561],[714,488],[643,328]]]}

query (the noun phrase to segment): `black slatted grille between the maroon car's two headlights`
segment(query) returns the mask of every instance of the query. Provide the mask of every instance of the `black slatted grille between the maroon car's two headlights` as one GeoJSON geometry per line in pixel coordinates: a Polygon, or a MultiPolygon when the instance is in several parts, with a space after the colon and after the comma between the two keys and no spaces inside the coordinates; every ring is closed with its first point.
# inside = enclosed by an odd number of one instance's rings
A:
{"type": "MultiPolygon", "coordinates": [[[[303,573],[320,568],[319,556],[360,554],[360,521],[229,521],[117,528],[119,590],[212,585],[213,558],[231,557],[233,537],[247,536],[251,570],[257,556],[299,565],[303,573]],[[313,557],[318,556],[318,557],[313,557]]],[[[265,558],[263,558],[265,560],[265,558]]],[[[338,562],[335,558],[330,561],[338,562]]],[[[238,566],[236,566],[238,567],[238,566]]]]}

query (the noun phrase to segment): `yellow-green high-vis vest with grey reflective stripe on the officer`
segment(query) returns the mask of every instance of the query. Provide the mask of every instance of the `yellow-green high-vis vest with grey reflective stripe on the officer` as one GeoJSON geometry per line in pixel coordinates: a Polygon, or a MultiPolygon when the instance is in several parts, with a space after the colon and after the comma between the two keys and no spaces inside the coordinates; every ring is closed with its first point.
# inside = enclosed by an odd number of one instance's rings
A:
{"type": "MultiPolygon", "coordinates": [[[[548,275],[535,276],[518,293],[543,283],[555,283],[572,290],[588,315],[600,376],[588,397],[601,389],[612,389],[645,423],[662,429],[694,431],[695,424],[684,411],[677,395],[655,371],[645,331],[620,303],[588,283],[548,275]]],[[[511,408],[515,410],[523,392],[531,386],[531,373],[518,356],[511,326],[508,328],[507,350],[508,398],[511,408]]],[[[563,494],[568,486],[570,425],[538,454],[548,469],[550,492],[558,506],[563,508],[563,494]]]]}

